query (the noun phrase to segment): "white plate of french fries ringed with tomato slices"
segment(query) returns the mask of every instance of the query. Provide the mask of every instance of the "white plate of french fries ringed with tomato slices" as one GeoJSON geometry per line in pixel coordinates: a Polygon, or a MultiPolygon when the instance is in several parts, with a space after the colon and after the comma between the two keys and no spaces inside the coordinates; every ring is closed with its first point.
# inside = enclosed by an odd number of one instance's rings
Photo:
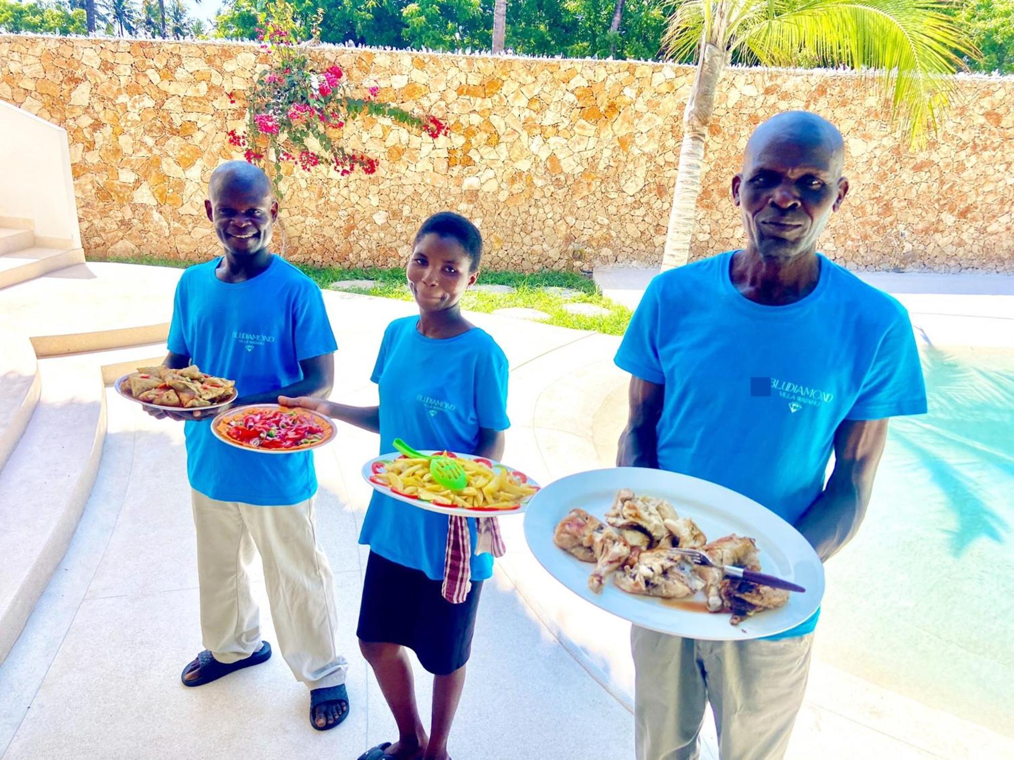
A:
{"type": "Polygon", "coordinates": [[[468,484],[461,490],[445,488],[430,474],[429,459],[392,453],[363,465],[363,479],[384,496],[431,512],[462,517],[518,515],[539,485],[513,467],[470,454],[423,451],[428,456],[453,457],[464,468],[468,484]]]}

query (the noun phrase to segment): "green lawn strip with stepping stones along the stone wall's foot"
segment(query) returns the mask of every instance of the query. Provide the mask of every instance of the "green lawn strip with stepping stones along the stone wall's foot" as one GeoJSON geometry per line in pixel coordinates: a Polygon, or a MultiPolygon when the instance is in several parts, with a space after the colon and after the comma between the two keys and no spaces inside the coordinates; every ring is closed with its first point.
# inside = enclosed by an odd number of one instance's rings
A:
{"type": "MultiPolygon", "coordinates": [[[[186,269],[192,261],[180,261],[172,258],[157,258],[155,256],[130,256],[94,259],[115,261],[117,263],[140,263],[148,267],[173,267],[186,269]]],[[[372,280],[374,287],[369,290],[354,290],[381,298],[395,298],[402,301],[412,300],[405,285],[405,270],[381,270],[376,268],[345,270],[339,267],[307,267],[295,264],[313,280],[323,290],[330,290],[333,283],[340,280],[372,280]]],[[[631,310],[626,306],[610,301],[603,296],[595,284],[581,275],[571,272],[539,272],[525,275],[519,272],[484,272],[479,276],[481,285],[509,285],[515,288],[514,293],[480,293],[468,291],[461,299],[462,308],[472,311],[491,312],[496,309],[512,307],[538,309],[550,315],[546,324],[560,327],[571,327],[582,330],[595,330],[609,335],[622,335],[631,319],[631,310]],[[580,291],[581,295],[565,299],[553,293],[547,293],[541,288],[570,288],[580,291]],[[608,309],[608,314],[601,316],[583,316],[571,314],[564,310],[568,303],[589,303],[608,309]]]]}

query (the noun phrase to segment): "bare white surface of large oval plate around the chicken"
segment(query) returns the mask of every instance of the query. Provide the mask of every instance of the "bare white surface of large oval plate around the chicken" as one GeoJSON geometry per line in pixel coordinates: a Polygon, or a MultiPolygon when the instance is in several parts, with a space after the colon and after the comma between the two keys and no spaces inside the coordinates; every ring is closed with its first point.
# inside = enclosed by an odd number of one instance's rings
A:
{"type": "MultiPolygon", "coordinates": [[[[528,504],[524,537],[550,575],[606,612],[644,628],[710,640],[759,638],[781,633],[808,618],[820,605],[824,577],[816,552],[805,538],[775,513],[741,493],[689,475],[642,467],[591,470],[556,480],[539,490],[528,504]],[[690,517],[708,540],[730,533],[756,540],[765,573],[792,581],[806,589],[791,593],[784,607],[758,612],[739,625],[730,614],[695,612],[665,606],[652,597],[628,594],[607,581],[601,594],[588,588],[594,565],[582,562],[553,542],[553,533],[572,509],[579,507],[604,521],[617,491],[630,488],[638,496],[665,499],[680,517],[690,517]]],[[[699,597],[704,598],[699,592],[699,597]]]]}

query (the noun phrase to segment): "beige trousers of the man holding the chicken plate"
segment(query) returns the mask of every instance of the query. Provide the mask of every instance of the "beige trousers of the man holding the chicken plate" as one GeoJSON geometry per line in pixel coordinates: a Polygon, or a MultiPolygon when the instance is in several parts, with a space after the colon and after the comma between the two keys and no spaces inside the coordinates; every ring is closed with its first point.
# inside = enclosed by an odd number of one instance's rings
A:
{"type": "Polygon", "coordinates": [[[638,760],[697,760],[711,702],[722,760],[785,756],[803,703],[813,634],[701,641],[634,626],[638,760]]]}

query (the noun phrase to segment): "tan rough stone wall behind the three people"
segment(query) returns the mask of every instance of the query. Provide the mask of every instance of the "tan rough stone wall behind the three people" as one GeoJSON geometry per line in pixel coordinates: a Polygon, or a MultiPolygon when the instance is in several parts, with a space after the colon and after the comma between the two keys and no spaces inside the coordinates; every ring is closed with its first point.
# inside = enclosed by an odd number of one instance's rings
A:
{"type": "MultiPolygon", "coordinates": [[[[215,252],[202,201],[258,66],[257,47],[0,35],[0,98],[70,135],[88,253],[188,259],[215,252]]],[[[660,260],[692,71],[634,62],[527,60],[321,48],[382,100],[446,120],[436,141],[383,122],[347,128],[376,174],[297,171],[283,201],[286,254],[394,265],[419,223],[469,216],[489,265],[518,270],[660,260]]],[[[731,70],[721,85],[695,257],[740,244],[729,180],[752,127],[789,108],[845,134],[852,193],[825,233],[865,270],[1014,272],[1014,79],[961,78],[938,139],[899,145],[854,75],[731,70]]],[[[3,139],[7,139],[4,137],[3,139]]],[[[0,179],[2,180],[2,179],[0,179]]]]}

